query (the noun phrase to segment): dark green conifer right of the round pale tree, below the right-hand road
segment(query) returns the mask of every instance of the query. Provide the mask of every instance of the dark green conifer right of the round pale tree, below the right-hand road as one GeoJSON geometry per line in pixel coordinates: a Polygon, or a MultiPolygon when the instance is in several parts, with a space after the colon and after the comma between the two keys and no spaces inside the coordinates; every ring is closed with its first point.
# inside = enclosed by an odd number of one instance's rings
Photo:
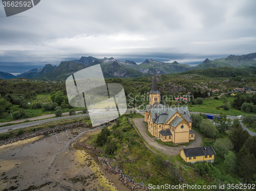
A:
{"type": "Polygon", "coordinates": [[[234,146],[234,152],[238,153],[240,151],[248,137],[249,133],[241,126],[239,126],[237,129],[234,129],[230,135],[230,140],[234,146]]]}

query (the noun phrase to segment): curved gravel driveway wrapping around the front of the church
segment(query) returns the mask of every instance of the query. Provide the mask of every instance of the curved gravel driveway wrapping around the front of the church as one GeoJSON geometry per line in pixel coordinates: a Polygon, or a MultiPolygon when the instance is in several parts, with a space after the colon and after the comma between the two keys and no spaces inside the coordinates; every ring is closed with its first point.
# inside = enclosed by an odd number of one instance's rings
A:
{"type": "Polygon", "coordinates": [[[161,151],[163,148],[163,153],[166,155],[172,156],[172,155],[179,155],[180,150],[183,148],[194,148],[194,147],[202,147],[202,136],[195,132],[195,138],[193,142],[190,143],[189,146],[180,146],[180,147],[169,147],[165,145],[160,145],[158,142],[154,140],[153,137],[148,136],[146,133],[145,124],[143,123],[143,118],[135,118],[133,120],[135,126],[139,130],[140,134],[144,138],[144,140],[147,142],[148,145],[154,147],[156,150],[161,151]]]}

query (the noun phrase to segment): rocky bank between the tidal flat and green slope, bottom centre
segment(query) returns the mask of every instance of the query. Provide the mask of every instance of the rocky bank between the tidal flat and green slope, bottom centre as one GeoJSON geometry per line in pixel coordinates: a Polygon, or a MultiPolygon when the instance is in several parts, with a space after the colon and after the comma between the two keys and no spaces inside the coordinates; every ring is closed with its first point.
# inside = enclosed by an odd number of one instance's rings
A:
{"type": "Polygon", "coordinates": [[[88,149],[92,151],[93,155],[95,158],[100,162],[103,166],[105,166],[105,170],[108,171],[110,174],[118,174],[119,179],[121,181],[121,184],[126,186],[127,188],[131,190],[147,190],[150,191],[151,189],[148,188],[148,186],[145,186],[144,182],[142,181],[141,183],[138,183],[134,180],[133,176],[125,175],[123,171],[120,169],[120,167],[117,165],[115,159],[109,159],[105,157],[99,157],[100,151],[94,147],[94,146],[89,146],[85,145],[84,142],[77,142],[76,144],[77,148],[82,148],[82,149],[88,149]],[[115,166],[113,164],[116,164],[115,166]]]}

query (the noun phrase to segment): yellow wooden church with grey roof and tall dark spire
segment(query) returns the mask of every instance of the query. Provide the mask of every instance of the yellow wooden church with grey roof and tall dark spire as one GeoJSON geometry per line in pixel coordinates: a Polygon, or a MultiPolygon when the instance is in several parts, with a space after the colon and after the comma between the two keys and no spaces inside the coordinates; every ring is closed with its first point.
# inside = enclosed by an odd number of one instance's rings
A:
{"type": "Polygon", "coordinates": [[[155,137],[175,144],[189,142],[195,139],[191,131],[191,116],[186,106],[166,107],[160,104],[160,92],[157,88],[156,73],[154,73],[150,91],[150,105],[146,106],[144,121],[148,123],[148,131],[155,137]]]}

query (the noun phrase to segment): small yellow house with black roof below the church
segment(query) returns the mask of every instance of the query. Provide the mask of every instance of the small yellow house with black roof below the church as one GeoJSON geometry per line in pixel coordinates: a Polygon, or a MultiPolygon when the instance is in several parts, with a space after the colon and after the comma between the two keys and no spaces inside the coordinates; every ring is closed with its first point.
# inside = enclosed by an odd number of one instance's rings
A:
{"type": "Polygon", "coordinates": [[[180,156],[186,162],[214,162],[214,156],[216,155],[214,149],[210,147],[196,147],[180,150],[180,156]]]}

